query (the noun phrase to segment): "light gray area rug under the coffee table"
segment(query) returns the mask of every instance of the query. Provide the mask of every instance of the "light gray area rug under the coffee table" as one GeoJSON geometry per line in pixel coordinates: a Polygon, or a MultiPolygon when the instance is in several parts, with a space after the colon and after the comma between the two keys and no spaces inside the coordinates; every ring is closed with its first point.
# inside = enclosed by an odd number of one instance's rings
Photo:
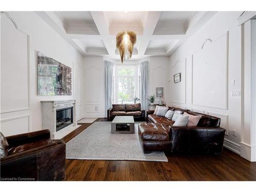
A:
{"type": "Polygon", "coordinates": [[[94,122],[66,144],[67,159],[165,161],[164,152],[144,154],[138,136],[111,134],[111,122],[94,122]]]}

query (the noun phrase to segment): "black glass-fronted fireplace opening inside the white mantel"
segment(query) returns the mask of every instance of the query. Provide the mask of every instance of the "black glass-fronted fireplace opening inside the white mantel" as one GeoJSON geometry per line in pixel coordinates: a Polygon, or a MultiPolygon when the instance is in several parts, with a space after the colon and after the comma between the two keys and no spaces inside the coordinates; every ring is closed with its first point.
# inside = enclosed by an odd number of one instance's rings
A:
{"type": "Polygon", "coordinates": [[[73,123],[73,106],[56,111],[56,132],[73,123]]]}

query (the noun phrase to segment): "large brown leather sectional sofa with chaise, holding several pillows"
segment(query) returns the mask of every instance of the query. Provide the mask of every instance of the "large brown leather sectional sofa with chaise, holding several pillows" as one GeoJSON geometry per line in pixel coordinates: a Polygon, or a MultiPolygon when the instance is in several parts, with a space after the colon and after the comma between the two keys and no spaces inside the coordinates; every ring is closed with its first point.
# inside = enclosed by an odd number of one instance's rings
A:
{"type": "Polygon", "coordinates": [[[173,126],[174,121],[153,115],[154,111],[147,111],[148,123],[140,123],[138,126],[144,153],[222,153],[225,130],[220,127],[220,118],[174,107],[169,107],[169,110],[202,117],[197,126],[173,126]]]}

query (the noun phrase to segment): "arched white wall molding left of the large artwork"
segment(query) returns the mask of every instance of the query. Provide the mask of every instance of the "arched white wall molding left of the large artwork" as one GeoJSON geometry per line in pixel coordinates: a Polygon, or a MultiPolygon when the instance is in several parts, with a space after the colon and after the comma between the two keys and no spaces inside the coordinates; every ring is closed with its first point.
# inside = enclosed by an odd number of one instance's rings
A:
{"type": "Polygon", "coordinates": [[[18,25],[16,24],[15,20],[10,16],[9,13],[0,11],[0,17],[1,16],[6,16],[9,18],[14,25],[14,27],[21,33],[25,34],[27,36],[27,51],[28,51],[28,65],[27,65],[27,70],[28,70],[28,106],[25,108],[18,108],[18,109],[10,109],[10,110],[5,110],[5,111],[0,111],[0,114],[2,113],[10,113],[10,112],[16,112],[16,111],[24,111],[24,110],[30,110],[30,105],[31,105],[31,100],[30,100],[30,40],[29,40],[29,34],[25,33],[24,31],[20,30],[18,28],[18,25]]]}

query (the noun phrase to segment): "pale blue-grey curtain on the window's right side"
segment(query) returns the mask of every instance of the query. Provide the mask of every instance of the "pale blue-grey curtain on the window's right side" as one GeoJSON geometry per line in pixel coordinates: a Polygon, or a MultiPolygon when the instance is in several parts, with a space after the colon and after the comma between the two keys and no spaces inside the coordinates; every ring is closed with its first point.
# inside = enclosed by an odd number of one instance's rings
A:
{"type": "Polygon", "coordinates": [[[141,73],[141,81],[140,81],[140,103],[141,109],[145,110],[145,115],[148,110],[148,61],[143,61],[140,63],[140,73],[141,73]]]}

